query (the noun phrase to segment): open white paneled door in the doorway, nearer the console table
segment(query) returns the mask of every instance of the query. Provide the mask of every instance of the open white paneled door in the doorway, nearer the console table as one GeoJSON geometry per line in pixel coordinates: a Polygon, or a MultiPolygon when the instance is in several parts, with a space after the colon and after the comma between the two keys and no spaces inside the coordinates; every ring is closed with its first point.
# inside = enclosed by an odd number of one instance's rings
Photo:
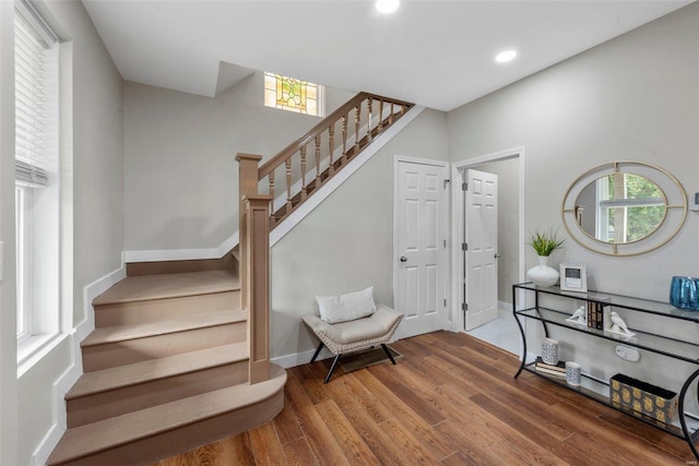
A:
{"type": "Polygon", "coordinates": [[[498,177],[469,169],[464,213],[464,326],[498,316],[498,177]]]}

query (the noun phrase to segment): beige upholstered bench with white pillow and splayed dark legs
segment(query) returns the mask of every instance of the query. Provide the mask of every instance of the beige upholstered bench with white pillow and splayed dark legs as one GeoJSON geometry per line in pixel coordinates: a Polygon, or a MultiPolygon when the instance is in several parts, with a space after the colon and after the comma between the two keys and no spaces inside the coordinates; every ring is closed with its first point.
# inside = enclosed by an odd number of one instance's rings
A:
{"type": "Polygon", "coordinates": [[[337,361],[343,355],[381,345],[393,365],[395,359],[386,344],[390,342],[403,314],[383,304],[376,306],[374,288],[341,295],[337,297],[316,297],[320,316],[304,315],[304,323],[318,336],[320,345],[310,362],[313,362],[323,346],[335,355],[325,375],[328,383],[337,361]]]}

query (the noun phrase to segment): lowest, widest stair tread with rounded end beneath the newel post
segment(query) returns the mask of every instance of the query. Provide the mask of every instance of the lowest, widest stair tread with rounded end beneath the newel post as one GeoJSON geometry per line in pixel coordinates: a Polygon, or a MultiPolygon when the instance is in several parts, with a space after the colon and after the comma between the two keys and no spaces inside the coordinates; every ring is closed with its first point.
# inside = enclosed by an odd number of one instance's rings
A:
{"type": "Polygon", "coordinates": [[[284,390],[286,371],[271,365],[270,380],[182,398],[68,429],[48,464],[60,464],[263,402],[284,390]]]}

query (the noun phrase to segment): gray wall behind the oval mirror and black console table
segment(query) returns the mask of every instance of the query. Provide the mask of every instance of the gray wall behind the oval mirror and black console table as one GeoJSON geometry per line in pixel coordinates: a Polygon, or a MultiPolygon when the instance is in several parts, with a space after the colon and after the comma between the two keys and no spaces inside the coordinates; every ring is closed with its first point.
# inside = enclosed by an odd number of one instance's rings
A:
{"type": "MultiPolygon", "coordinates": [[[[656,164],[687,191],[697,191],[698,24],[695,2],[450,112],[451,160],[524,146],[525,228],[558,228],[561,236],[560,208],[568,186],[604,163],[656,164]]],[[[673,275],[699,275],[698,237],[699,214],[690,212],[679,234],[656,251],[611,258],[568,239],[554,261],[587,265],[596,289],[667,302],[673,275]]],[[[535,255],[528,248],[525,266],[533,265],[535,255]]],[[[635,320],[631,326],[697,337],[695,326],[635,320]]],[[[648,351],[642,351],[641,365],[633,365],[616,358],[612,343],[558,330],[555,336],[562,342],[564,359],[579,360],[583,371],[603,379],[624,372],[678,390],[687,373],[687,365],[668,365],[648,351]]]]}

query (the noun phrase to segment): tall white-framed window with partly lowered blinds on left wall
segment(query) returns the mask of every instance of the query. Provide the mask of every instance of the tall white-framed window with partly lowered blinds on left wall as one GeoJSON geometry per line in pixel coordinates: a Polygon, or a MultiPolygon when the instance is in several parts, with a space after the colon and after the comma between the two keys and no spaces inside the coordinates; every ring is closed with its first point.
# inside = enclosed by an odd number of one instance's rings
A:
{"type": "MultiPolygon", "coordinates": [[[[2,0],[0,0],[2,1],[2,0]]],[[[17,373],[58,335],[59,44],[31,2],[14,14],[17,373]]]]}

